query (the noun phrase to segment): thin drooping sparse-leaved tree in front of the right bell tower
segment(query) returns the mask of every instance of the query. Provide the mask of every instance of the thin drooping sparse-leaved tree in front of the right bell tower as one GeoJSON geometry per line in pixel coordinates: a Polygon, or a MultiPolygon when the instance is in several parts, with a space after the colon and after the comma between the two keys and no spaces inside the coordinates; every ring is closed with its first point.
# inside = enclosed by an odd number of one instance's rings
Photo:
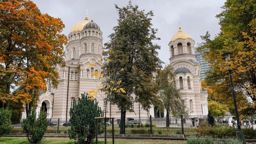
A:
{"type": "Polygon", "coordinates": [[[170,65],[167,65],[163,70],[158,70],[157,72],[156,82],[160,90],[160,109],[166,109],[166,127],[170,126],[170,113],[174,117],[187,114],[181,93],[175,88],[174,78],[173,68],[170,65]]]}

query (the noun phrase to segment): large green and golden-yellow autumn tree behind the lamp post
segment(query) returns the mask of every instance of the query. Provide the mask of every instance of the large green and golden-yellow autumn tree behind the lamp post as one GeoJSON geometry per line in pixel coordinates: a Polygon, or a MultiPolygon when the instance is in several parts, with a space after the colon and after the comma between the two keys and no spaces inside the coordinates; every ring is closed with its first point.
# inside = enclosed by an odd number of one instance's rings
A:
{"type": "MultiPolygon", "coordinates": [[[[205,45],[199,48],[211,69],[206,83],[218,90],[230,87],[228,69],[232,70],[234,89],[246,99],[256,102],[256,18],[255,0],[228,0],[219,18],[221,32],[210,40],[210,34],[201,36],[205,45]],[[221,54],[233,52],[231,61],[226,63],[221,54]]],[[[222,91],[219,91],[221,93],[222,91]]]]}

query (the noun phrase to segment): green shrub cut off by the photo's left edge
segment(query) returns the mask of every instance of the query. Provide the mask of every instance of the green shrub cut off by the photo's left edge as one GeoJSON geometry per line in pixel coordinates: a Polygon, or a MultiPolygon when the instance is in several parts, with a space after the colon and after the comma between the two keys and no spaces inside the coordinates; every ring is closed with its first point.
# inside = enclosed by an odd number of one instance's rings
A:
{"type": "Polygon", "coordinates": [[[8,109],[0,109],[0,136],[10,134],[13,127],[11,126],[12,112],[8,109]]]}

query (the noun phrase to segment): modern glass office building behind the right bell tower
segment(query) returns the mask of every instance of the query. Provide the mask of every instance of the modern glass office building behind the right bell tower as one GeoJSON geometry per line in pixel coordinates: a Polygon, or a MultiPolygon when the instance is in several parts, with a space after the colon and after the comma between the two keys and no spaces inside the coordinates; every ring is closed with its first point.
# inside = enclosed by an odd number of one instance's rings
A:
{"type": "Polygon", "coordinates": [[[205,72],[207,72],[207,70],[209,69],[209,63],[207,61],[204,60],[203,58],[203,53],[199,53],[197,51],[197,48],[198,47],[195,47],[195,55],[196,55],[196,61],[198,61],[200,63],[200,66],[201,66],[201,73],[200,73],[200,77],[201,77],[201,80],[204,80],[206,75],[205,75],[205,72]]]}

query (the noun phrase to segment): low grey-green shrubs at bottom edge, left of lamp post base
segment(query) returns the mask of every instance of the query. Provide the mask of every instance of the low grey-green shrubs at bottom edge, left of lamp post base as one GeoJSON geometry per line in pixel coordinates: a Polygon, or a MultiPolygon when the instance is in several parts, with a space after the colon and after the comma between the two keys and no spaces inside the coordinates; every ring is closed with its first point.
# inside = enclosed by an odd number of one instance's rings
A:
{"type": "Polygon", "coordinates": [[[242,144],[242,142],[235,138],[214,141],[211,136],[190,136],[187,144],[242,144]]]}

